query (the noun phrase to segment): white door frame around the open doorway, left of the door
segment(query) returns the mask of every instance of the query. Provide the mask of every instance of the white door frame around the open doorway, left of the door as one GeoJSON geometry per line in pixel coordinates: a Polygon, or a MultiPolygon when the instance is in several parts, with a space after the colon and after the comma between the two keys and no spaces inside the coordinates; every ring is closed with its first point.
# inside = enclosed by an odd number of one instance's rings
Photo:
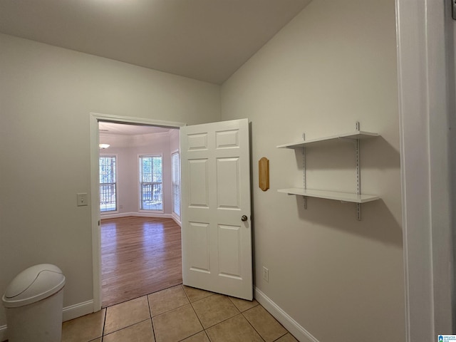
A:
{"type": "Polygon", "coordinates": [[[101,231],[100,220],[100,180],[98,176],[99,133],[98,122],[130,123],[138,125],[162,126],[181,128],[186,123],[133,118],[129,116],[90,113],[90,209],[92,227],[92,269],[93,269],[93,312],[101,309],[101,231]]]}

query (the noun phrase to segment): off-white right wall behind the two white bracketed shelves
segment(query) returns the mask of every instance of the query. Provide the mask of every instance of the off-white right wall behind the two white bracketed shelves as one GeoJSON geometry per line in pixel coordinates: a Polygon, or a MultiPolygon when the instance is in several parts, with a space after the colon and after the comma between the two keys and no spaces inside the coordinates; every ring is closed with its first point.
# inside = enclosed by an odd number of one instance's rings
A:
{"type": "MultiPolygon", "coordinates": [[[[318,341],[405,340],[393,0],[314,0],[222,85],[222,119],[252,121],[256,286],[318,341]],[[276,192],[302,184],[286,142],[354,130],[363,192],[354,204],[276,192]],[[257,160],[270,160],[271,189],[257,160]],[[269,282],[261,268],[269,268],[269,282]]],[[[355,190],[353,147],[307,149],[308,188],[355,190]]]]}

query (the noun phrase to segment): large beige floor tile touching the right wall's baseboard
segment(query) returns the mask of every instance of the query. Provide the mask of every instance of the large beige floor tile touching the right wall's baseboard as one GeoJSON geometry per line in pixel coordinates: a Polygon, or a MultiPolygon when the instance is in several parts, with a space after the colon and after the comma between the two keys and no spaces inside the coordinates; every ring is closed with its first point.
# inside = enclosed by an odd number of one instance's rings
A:
{"type": "Polygon", "coordinates": [[[252,324],[266,342],[276,341],[277,338],[285,335],[287,332],[286,329],[276,321],[276,318],[271,316],[271,314],[269,314],[261,305],[244,311],[243,314],[245,318],[247,318],[247,321],[252,324]]]}

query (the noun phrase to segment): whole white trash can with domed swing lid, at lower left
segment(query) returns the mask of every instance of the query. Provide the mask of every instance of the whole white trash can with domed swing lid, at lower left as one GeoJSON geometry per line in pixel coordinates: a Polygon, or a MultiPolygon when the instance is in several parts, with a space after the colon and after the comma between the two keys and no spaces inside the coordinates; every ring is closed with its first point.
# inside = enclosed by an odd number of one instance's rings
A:
{"type": "Polygon", "coordinates": [[[65,276],[51,264],[19,273],[2,297],[9,342],[60,342],[65,276]]]}

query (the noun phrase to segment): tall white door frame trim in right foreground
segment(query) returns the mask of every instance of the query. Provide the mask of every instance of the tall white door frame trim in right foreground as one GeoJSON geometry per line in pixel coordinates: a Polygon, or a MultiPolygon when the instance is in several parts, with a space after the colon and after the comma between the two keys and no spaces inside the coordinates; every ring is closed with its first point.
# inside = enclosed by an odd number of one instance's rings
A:
{"type": "Polygon", "coordinates": [[[405,335],[407,342],[435,341],[437,334],[455,329],[451,1],[395,0],[395,5],[405,335]]]}

